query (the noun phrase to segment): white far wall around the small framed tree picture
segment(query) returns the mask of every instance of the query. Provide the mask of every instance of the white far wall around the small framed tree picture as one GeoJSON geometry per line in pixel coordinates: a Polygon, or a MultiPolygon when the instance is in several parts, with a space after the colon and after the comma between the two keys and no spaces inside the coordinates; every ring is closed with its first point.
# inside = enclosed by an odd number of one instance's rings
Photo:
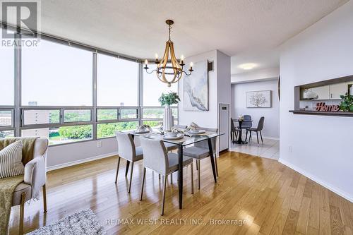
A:
{"type": "Polygon", "coordinates": [[[232,118],[249,114],[253,119],[253,126],[258,125],[261,116],[265,117],[263,137],[280,138],[280,101],[278,100],[278,80],[264,80],[261,82],[232,84],[232,118]],[[271,108],[246,108],[245,92],[256,90],[272,91],[271,108]]]}

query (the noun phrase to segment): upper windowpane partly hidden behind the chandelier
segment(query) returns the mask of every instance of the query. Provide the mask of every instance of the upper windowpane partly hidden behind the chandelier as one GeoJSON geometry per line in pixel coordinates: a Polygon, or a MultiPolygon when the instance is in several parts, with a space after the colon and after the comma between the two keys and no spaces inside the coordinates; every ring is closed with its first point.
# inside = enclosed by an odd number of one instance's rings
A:
{"type": "MultiPolygon", "coordinates": [[[[148,65],[150,70],[155,69],[155,65],[148,65]]],[[[158,80],[155,73],[148,74],[143,70],[143,106],[160,106],[158,98],[162,93],[178,92],[178,83],[172,83],[170,88],[167,83],[158,80]]]]}

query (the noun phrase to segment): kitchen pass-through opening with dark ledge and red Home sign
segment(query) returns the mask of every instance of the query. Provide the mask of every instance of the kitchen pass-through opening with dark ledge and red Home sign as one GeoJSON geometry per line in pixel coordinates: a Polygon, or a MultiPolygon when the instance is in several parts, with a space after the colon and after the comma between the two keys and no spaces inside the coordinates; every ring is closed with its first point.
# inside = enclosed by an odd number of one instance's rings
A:
{"type": "Polygon", "coordinates": [[[352,86],[353,76],[297,85],[294,87],[294,110],[289,112],[304,115],[353,116],[353,112],[337,111],[341,102],[340,95],[345,95],[349,91],[351,91],[350,95],[353,95],[352,86]],[[325,103],[325,109],[317,111],[316,106],[322,107],[323,103],[325,103]],[[327,107],[330,109],[326,109],[327,107]]]}

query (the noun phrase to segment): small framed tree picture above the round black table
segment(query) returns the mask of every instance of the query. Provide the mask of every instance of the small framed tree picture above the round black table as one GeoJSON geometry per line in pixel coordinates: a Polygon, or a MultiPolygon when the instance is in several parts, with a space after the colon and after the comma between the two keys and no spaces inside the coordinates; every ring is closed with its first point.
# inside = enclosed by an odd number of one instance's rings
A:
{"type": "Polygon", "coordinates": [[[247,108],[270,108],[272,104],[270,90],[246,92],[247,108]]]}

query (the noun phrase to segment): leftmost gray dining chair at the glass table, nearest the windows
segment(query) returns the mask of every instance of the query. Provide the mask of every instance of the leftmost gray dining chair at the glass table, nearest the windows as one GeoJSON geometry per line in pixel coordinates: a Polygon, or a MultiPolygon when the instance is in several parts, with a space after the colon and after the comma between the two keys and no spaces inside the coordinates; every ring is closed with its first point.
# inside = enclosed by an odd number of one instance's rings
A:
{"type": "Polygon", "coordinates": [[[118,140],[118,166],[116,167],[115,183],[118,181],[119,166],[121,157],[131,162],[130,182],[128,183],[128,193],[131,191],[131,181],[133,176],[133,163],[143,159],[142,147],[136,147],[130,133],[116,131],[116,140],[118,140]]]}

